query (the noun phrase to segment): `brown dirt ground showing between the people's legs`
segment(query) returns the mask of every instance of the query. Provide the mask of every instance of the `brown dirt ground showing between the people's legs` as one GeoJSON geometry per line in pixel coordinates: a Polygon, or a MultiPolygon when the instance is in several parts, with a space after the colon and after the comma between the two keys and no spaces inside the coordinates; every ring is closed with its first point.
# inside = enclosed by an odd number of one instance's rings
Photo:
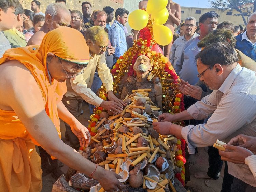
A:
{"type": "MultiPolygon", "coordinates": [[[[89,120],[89,108],[88,105],[83,103],[83,111],[84,114],[79,117],[79,121],[87,126],[89,120]]],[[[65,125],[63,121],[60,123],[60,131],[61,131],[61,139],[64,143],[69,145],[69,141],[65,138],[65,125]]],[[[64,165],[61,167],[61,170],[66,173],[68,167],[64,165]]],[[[198,154],[196,155],[196,164],[190,165],[190,181],[187,182],[186,189],[191,192],[219,192],[221,191],[223,173],[224,173],[224,165],[221,171],[221,175],[217,180],[208,180],[208,186],[205,185],[206,179],[197,179],[194,177],[194,173],[197,171],[207,171],[208,170],[208,154],[207,147],[206,148],[198,148],[198,154]]],[[[51,174],[43,177],[43,189],[42,192],[51,192],[53,183],[56,180],[51,177],[51,174]]]]}

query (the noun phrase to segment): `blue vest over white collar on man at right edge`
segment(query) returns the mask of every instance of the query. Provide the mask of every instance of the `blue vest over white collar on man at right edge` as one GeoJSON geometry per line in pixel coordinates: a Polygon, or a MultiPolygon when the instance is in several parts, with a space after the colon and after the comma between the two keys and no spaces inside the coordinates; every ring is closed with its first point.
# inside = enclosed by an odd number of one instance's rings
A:
{"type": "Polygon", "coordinates": [[[236,40],[235,48],[256,62],[256,43],[252,43],[248,39],[246,31],[241,35],[237,35],[236,40]]]}

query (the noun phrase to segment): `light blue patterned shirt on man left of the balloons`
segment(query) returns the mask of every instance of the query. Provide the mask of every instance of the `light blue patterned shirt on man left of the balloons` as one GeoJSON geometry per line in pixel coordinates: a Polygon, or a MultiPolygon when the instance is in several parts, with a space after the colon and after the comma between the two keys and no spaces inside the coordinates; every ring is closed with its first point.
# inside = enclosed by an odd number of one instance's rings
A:
{"type": "Polygon", "coordinates": [[[122,56],[127,51],[125,31],[123,25],[117,20],[114,21],[109,30],[109,40],[111,45],[115,48],[113,64],[116,63],[115,57],[122,56]]]}

